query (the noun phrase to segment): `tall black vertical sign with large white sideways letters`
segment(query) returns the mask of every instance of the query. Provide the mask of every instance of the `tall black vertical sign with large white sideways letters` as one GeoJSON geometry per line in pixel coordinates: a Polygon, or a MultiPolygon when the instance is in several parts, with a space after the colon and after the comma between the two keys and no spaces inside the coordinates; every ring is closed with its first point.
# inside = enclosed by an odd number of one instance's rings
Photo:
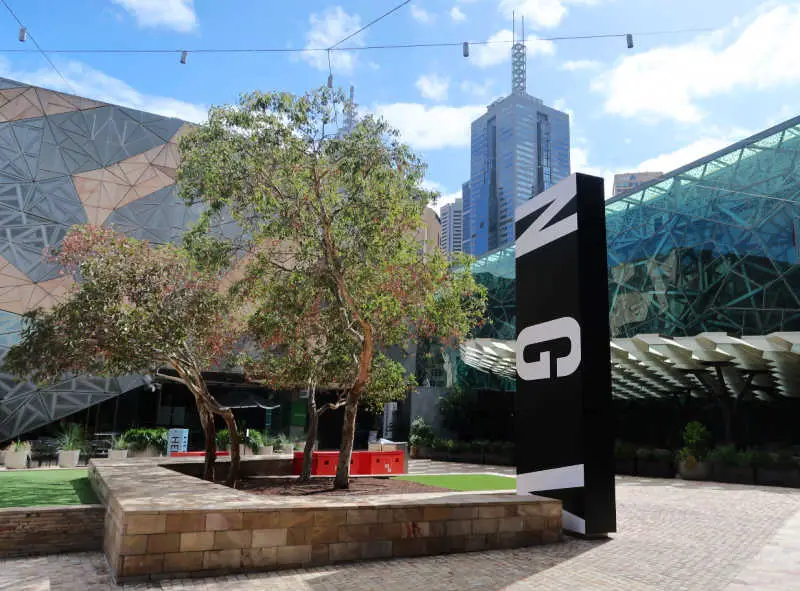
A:
{"type": "Polygon", "coordinates": [[[603,179],[516,212],[517,492],[557,498],[564,529],[616,531],[603,179]]]}

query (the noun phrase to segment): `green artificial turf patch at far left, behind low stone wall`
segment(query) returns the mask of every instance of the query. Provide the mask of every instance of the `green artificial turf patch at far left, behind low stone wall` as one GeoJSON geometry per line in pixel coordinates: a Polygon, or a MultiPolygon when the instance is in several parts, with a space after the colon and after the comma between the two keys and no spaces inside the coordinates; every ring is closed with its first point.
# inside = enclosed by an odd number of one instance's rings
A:
{"type": "Polygon", "coordinates": [[[85,468],[0,472],[0,507],[90,505],[97,502],[85,468]]]}

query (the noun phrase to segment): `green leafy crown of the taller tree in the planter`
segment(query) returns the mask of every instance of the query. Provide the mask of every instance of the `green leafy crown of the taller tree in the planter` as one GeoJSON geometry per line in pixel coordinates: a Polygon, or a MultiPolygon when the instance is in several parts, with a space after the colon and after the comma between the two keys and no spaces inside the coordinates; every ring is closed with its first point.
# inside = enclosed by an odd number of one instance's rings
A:
{"type": "MultiPolygon", "coordinates": [[[[181,138],[178,180],[187,202],[230,212],[250,239],[234,286],[253,302],[261,346],[243,361],[250,375],[336,385],[342,404],[377,408],[412,382],[376,352],[420,338],[456,345],[481,319],[486,290],[467,259],[422,252],[424,164],[372,115],[338,133],[345,104],[341,90],[321,88],[214,108],[181,138]]],[[[213,259],[206,246],[192,250],[213,259]]],[[[343,433],[352,444],[352,424],[343,433]]]]}

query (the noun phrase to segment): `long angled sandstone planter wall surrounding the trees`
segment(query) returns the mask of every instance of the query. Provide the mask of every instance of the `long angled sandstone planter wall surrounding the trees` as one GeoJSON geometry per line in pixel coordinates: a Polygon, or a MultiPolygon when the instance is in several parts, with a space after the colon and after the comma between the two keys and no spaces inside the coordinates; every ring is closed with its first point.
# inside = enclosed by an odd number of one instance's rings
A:
{"type": "MultiPolygon", "coordinates": [[[[291,459],[281,459],[291,465],[291,459]]],[[[185,460],[202,466],[199,458],[185,460]]],[[[259,461],[269,460],[252,460],[259,461]]],[[[532,495],[251,495],[142,460],[93,460],[89,478],[108,506],[103,548],[117,581],[516,548],[562,539],[561,502],[532,495]]]]}

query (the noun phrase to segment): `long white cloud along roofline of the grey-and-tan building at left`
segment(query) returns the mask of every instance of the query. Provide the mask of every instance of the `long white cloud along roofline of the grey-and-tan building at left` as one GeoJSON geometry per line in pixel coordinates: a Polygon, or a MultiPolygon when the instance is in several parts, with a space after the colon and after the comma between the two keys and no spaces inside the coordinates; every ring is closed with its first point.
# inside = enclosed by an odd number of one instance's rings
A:
{"type": "Polygon", "coordinates": [[[77,93],[87,98],[157,113],[165,117],[178,117],[195,123],[205,121],[207,118],[208,107],[205,105],[141,93],[119,78],[95,70],[82,62],[70,61],[57,65],[64,77],[69,80],[69,85],[50,68],[15,71],[5,59],[0,59],[0,75],[27,84],[69,94],[77,93]]]}

